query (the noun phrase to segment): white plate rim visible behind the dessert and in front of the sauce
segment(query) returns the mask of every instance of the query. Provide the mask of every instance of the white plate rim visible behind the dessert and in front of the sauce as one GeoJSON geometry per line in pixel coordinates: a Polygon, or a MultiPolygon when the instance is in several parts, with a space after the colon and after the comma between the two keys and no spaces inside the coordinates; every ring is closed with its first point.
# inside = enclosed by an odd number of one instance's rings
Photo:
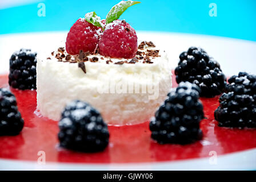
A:
{"type": "MultiPolygon", "coordinates": [[[[67,32],[41,32],[30,34],[0,35],[0,74],[7,73],[9,59],[20,48],[32,51],[53,51],[65,44],[67,32]]],[[[160,32],[138,32],[139,40],[151,40],[169,54],[173,68],[178,63],[179,54],[190,46],[202,47],[221,64],[222,71],[228,75],[237,75],[239,71],[256,74],[254,51],[256,43],[247,40],[220,38],[217,36],[174,34],[160,32]]],[[[210,164],[209,158],[179,160],[175,162],[139,163],[139,164],[67,164],[0,159],[0,170],[206,170],[206,169],[256,169],[256,149],[218,156],[217,164],[210,164]]]]}

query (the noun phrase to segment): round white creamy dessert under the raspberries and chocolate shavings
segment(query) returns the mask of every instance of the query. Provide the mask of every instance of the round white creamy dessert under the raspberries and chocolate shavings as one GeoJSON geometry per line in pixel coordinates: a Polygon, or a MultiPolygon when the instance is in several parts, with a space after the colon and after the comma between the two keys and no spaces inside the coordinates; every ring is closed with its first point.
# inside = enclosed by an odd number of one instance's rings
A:
{"type": "Polygon", "coordinates": [[[38,53],[37,109],[43,116],[58,121],[68,102],[82,100],[99,110],[110,125],[142,123],[154,115],[171,88],[171,68],[164,51],[149,56],[148,63],[145,59],[129,64],[131,59],[87,57],[85,73],[78,63],[38,53]]]}

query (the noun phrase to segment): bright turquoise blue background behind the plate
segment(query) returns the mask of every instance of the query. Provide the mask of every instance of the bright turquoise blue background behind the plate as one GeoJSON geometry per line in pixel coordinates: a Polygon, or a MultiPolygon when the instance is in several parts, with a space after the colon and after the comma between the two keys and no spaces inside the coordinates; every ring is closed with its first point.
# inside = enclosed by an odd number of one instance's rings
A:
{"type": "MultiPolygon", "coordinates": [[[[0,34],[69,30],[89,11],[105,18],[114,1],[38,1],[0,10],[0,34]],[[38,3],[46,5],[46,16],[39,17],[38,3]]],[[[141,0],[121,18],[144,31],[185,32],[226,36],[256,41],[255,0],[141,0]],[[209,16],[209,4],[217,4],[217,17],[209,16]]]]}

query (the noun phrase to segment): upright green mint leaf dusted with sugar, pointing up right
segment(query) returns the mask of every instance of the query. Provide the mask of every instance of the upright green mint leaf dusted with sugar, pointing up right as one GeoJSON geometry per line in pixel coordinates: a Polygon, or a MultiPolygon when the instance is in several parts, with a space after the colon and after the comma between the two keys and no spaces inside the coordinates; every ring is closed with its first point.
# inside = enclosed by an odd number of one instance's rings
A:
{"type": "Polygon", "coordinates": [[[141,3],[139,1],[121,1],[113,6],[106,16],[106,24],[117,20],[128,7],[141,3]]]}

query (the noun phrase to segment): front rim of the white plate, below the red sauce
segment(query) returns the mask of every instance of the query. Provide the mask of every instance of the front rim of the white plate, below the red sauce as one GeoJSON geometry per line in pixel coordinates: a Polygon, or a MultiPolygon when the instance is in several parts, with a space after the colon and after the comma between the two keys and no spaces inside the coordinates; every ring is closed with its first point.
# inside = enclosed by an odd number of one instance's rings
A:
{"type": "Polygon", "coordinates": [[[126,163],[126,164],[82,164],[82,163],[55,163],[38,164],[25,160],[0,159],[0,170],[255,170],[256,149],[217,157],[217,164],[210,164],[209,158],[178,160],[174,162],[153,163],[126,163]]]}

